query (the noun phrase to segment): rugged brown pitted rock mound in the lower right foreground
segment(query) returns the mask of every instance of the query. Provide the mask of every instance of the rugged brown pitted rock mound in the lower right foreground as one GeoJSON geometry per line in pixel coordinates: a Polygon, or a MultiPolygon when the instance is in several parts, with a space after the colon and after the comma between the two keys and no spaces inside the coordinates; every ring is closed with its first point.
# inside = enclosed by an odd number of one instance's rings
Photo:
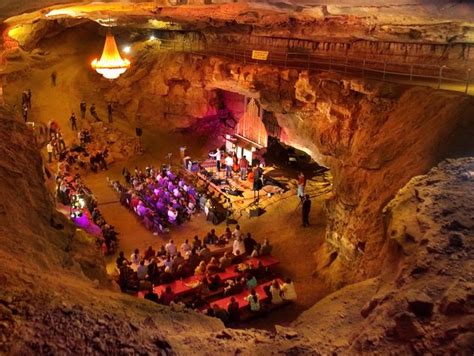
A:
{"type": "Polygon", "coordinates": [[[380,278],[329,295],[293,327],[322,353],[471,354],[473,194],[472,158],[412,178],[384,209],[398,258],[387,255],[380,278]]]}

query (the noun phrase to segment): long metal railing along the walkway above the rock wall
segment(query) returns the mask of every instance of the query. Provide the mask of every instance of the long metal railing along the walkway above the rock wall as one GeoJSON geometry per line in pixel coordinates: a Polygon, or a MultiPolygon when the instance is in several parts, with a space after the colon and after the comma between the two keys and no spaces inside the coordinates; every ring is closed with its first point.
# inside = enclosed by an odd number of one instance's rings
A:
{"type": "MultiPolygon", "coordinates": [[[[345,55],[310,52],[307,49],[286,50],[281,47],[273,49],[252,48],[248,45],[229,45],[219,42],[206,43],[190,39],[161,39],[162,50],[190,52],[199,55],[225,57],[245,64],[273,65],[283,69],[308,71],[332,71],[341,74],[377,79],[386,82],[413,83],[437,89],[449,89],[470,94],[471,69],[450,67],[447,64],[418,63],[411,58],[409,62],[378,60],[376,55],[354,57],[345,55]],[[267,60],[252,58],[252,50],[268,51],[267,60]]],[[[381,55],[386,56],[386,55],[381,55]]],[[[420,61],[429,60],[429,56],[420,56],[420,61]]],[[[446,61],[445,63],[448,63],[446,61]]],[[[472,93],[474,94],[474,93],[472,93]]]]}

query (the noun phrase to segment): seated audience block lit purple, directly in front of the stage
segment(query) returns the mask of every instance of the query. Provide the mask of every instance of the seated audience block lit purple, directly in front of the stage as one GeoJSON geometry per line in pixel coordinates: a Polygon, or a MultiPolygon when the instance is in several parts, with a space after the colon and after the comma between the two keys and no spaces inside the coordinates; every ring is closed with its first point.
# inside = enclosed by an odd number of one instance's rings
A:
{"type": "Polygon", "coordinates": [[[144,171],[135,168],[122,171],[126,186],[118,181],[111,184],[120,194],[120,201],[129,207],[144,225],[156,233],[170,225],[180,225],[196,212],[196,189],[175,175],[167,167],[156,170],[152,166],[144,171]]]}

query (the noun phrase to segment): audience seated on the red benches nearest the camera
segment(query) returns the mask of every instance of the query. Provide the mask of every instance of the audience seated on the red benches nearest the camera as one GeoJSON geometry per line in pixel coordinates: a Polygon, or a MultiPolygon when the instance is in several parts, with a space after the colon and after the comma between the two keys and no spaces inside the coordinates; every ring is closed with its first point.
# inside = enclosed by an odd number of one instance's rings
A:
{"type": "MultiPolygon", "coordinates": [[[[194,236],[179,246],[171,239],[156,251],[152,246],[143,252],[135,249],[129,258],[124,252],[120,252],[116,260],[119,285],[124,292],[147,289],[144,297],[157,303],[203,311],[207,315],[222,319],[225,323],[238,322],[240,311],[235,298],[229,303],[227,310],[221,310],[222,308],[209,300],[216,295],[231,297],[248,290],[250,312],[256,313],[265,309],[255,288],[260,282],[273,280],[275,275],[261,261],[256,265],[246,264],[245,261],[248,257],[270,255],[271,251],[272,245],[268,239],[259,244],[250,233],[243,234],[239,225],[232,232],[230,228],[226,228],[220,235],[212,229],[203,239],[194,236]],[[226,251],[220,256],[215,256],[211,252],[213,245],[227,244],[231,245],[232,251],[226,251]],[[219,273],[231,266],[239,272],[239,276],[221,280],[219,273]],[[195,293],[186,299],[176,296],[168,284],[193,275],[197,277],[195,293]],[[160,295],[153,291],[153,286],[163,284],[168,286],[160,295]]],[[[280,304],[296,299],[296,292],[290,280],[280,285],[275,279],[271,286],[264,288],[264,291],[267,304],[280,304]]]]}

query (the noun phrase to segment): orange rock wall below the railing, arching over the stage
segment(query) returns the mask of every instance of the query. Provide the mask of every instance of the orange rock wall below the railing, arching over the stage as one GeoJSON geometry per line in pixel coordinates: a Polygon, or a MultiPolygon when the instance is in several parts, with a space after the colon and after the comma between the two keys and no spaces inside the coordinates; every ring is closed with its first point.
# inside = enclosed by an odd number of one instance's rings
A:
{"type": "Polygon", "coordinates": [[[275,113],[286,143],[331,169],[327,243],[316,270],[332,288],[378,274],[382,209],[411,177],[445,157],[474,154],[474,101],[457,93],[146,49],[137,64],[114,88],[125,106],[145,77],[140,110],[153,110],[169,128],[212,111],[215,89],[254,97],[275,113]]]}

